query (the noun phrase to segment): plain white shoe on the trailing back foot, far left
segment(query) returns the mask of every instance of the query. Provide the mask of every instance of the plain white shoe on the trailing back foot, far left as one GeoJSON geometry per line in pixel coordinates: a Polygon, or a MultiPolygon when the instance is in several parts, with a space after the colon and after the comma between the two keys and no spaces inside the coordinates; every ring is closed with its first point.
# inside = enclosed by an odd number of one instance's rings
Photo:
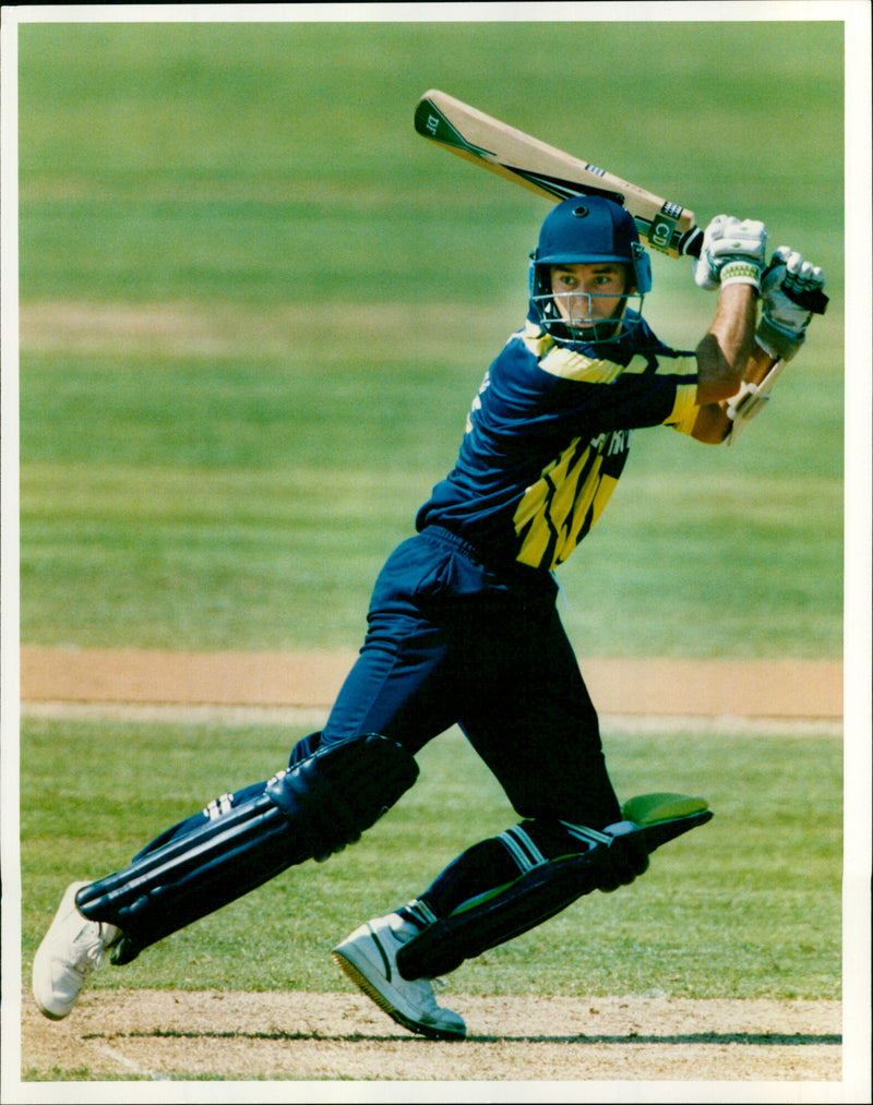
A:
{"type": "Polygon", "coordinates": [[[90,883],[71,883],[49,932],[33,958],[33,997],[53,1021],[67,1017],[91,974],[103,965],[107,948],[122,933],[115,925],[88,920],[76,908],[76,892],[90,883]]]}

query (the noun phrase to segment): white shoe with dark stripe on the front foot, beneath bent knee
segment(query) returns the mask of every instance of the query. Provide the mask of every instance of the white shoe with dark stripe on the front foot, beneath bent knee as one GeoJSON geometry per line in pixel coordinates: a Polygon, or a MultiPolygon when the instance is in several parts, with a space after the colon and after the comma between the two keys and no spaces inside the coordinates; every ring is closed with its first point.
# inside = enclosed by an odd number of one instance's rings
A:
{"type": "Polygon", "coordinates": [[[410,982],[397,969],[398,950],[417,932],[396,913],[369,920],[334,948],[334,960],[355,986],[410,1032],[431,1040],[463,1040],[464,1019],[436,1004],[431,980],[410,982]]]}

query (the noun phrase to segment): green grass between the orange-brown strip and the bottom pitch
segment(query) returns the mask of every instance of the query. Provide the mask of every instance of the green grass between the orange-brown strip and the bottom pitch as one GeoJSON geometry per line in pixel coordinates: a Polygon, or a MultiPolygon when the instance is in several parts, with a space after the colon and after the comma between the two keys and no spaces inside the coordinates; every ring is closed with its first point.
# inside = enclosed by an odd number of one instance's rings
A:
{"type": "MultiPolygon", "coordinates": [[[[74,877],[123,867],[213,794],[271,775],[284,729],[31,720],[22,739],[24,957],[74,877]],[[75,749],[51,797],[42,775],[75,749]],[[114,755],[113,749],[125,749],[114,755]],[[72,759],[72,757],[71,757],[72,759]],[[104,765],[95,789],[94,765],[104,765]],[[148,764],[147,774],[144,765],[148,764]]],[[[663,993],[817,999],[840,994],[841,775],[833,737],[607,735],[622,799],[703,793],[715,818],[652,857],[629,890],[593,894],[465,964],[472,993],[663,993]],[[818,800],[804,800],[810,779],[818,800]]],[[[330,948],[425,888],[475,840],[517,818],[456,732],[428,746],[421,777],[358,845],[294,869],[246,898],[98,975],[99,987],[347,989],[330,948]]]]}

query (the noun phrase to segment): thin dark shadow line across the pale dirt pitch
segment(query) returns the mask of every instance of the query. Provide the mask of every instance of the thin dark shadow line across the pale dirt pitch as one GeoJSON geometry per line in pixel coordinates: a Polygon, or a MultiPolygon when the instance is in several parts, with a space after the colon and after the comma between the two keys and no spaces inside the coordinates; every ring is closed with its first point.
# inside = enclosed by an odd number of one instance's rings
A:
{"type": "MultiPolygon", "coordinates": [[[[274,1030],[271,1032],[241,1032],[239,1030],[229,1031],[180,1031],[177,1029],[149,1029],[135,1032],[91,1032],[83,1036],[85,1040],[269,1040],[280,1043],[295,1042],[317,1042],[325,1041],[332,1043],[392,1043],[402,1042],[411,1045],[432,1044],[432,1040],[423,1036],[410,1035],[404,1032],[341,1032],[327,1033],[316,1031],[282,1032],[274,1030]]],[[[614,1033],[603,1035],[501,1035],[473,1033],[463,1040],[450,1041],[454,1045],[462,1044],[487,1044],[487,1043],[560,1043],[560,1044],[745,1044],[747,1046],[771,1046],[771,1048],[802,1048],[821,1044],[839,1046],[843,1042],[839,1032],[677,1032],[664,1035],[646,1034],[637,1032],[614,1033]]]]}

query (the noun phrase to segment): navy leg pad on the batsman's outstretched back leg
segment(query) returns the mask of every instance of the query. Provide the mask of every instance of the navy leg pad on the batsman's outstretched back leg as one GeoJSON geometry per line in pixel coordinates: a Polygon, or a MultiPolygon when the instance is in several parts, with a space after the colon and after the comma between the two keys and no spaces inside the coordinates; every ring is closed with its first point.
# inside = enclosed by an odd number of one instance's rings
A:
{"type": "Polygon", "coordinates": [[[287,867],[357,841],[417,776],[411,754],[375,734],[319,747],[240,806],[83,887],[76,905],[122,929],[113,962],[130,962],[287,867]]]}

